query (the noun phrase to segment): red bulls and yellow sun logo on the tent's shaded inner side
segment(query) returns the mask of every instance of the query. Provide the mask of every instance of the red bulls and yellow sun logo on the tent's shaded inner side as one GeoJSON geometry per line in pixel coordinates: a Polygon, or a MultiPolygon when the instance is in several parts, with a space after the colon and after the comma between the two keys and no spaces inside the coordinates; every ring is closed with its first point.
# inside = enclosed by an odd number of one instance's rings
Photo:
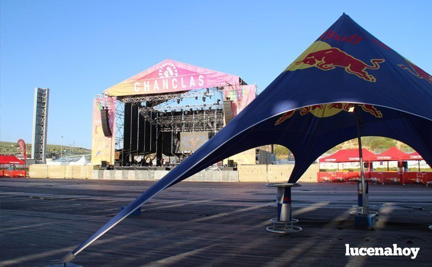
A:
{"type": "MultiPolygon", "coordinates": [[[[307,106],[297,110],[291,110],[285,112],[284,114],[282,114],[281,117],[278,118],[278,120],[276,120],[275,125],[279,125],[285,120],[287,120],[288,118],[293,117],[296,111],[299,111],[299,114],[301,116],[311,113],[315,117],[322,118],[322,117],[334,116],[342,111],[349,112],[349,109],[353,106],[354,106],[353,103],[329,103],[329,104],[307,106]]],[[[379,111],[374,105],[357,104],[357,106],[361,107],[364,112],[369,113],[374,117],[382,118],[382,112],[379,111]]]]}

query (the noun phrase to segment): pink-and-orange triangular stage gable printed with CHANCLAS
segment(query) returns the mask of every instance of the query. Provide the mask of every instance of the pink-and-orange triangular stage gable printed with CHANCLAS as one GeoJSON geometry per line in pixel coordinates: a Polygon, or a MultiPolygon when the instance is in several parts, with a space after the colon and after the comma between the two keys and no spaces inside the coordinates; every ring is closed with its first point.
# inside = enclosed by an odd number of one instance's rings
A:
{"type": "Polygon", "coordinates": [[[109,96],[184,92],[192,89],[245,84],[239,76],[166,59],[106,89],[109,96]]]}

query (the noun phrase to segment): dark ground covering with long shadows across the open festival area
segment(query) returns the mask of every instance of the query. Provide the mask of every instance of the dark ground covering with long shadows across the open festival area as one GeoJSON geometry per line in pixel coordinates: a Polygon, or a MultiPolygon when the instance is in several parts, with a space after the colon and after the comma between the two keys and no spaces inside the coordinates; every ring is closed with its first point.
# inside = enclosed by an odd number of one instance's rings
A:
{"type": "MultiPolygon", "coordinates": [[[[48,266],[154,182],[1,179],[0,266],[48,266]]],[[[357,184],[304,183],[293,188],[303,232],[266,232],[276,217],[275,188],[263,183],[182,182],[143,206],[77,255],[88,266],[367,266],[429,265],[432,187],[372,185],[380,211],[375,231],[349,215],[357,184]],[[350,247],[419,247],[409,257],[345,256],[350,247]]]]}

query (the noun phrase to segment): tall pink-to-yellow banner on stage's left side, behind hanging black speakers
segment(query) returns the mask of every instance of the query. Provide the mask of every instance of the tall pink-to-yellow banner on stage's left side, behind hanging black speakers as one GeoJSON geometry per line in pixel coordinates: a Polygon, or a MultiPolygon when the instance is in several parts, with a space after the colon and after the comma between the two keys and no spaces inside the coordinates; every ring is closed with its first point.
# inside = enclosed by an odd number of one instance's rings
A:
{"type": "Polygon", "coordinates": [[[115,149],[116,98],[97,96],[93,100],[92,123],[92,165],[100,165],[101,161],[114,164],[115,149]],[[108,120],[112,135],[106,137],[102,131],[100,110],[108,109],[108,120]]]}

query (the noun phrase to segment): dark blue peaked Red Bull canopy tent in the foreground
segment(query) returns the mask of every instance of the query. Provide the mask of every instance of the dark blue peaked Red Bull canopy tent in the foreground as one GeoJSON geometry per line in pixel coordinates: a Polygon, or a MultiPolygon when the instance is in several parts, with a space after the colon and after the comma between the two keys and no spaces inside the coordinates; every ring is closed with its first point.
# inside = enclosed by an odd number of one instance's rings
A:
{"type": "MultiPolygon", "coordinates": [[[[432,76],[343,14],[225,128],[60,262],[168,186],[236,153],[279,144],[294,154],[290,183],[325,151],[362,135],[402,141],[432,163],[432,76]]],[[[288,180],[288,177],[287,177],[288,180]]]]}

